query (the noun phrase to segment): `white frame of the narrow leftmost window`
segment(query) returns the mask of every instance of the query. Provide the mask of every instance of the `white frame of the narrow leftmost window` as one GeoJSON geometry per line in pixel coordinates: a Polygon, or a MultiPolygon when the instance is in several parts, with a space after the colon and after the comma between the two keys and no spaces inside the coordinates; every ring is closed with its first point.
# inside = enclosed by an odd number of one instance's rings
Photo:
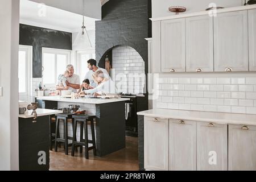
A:
{"type": "MultiPolygon", "coordinates": [[[[33,47],[26,45],[19,45],[19,51],[26,52],[26,92],[19,92],[19,96],[31,96],[31,78],[32,78],[32,59],[33,47]]],[[[19,88],[19,87],[18,87],[19,88]]]]}

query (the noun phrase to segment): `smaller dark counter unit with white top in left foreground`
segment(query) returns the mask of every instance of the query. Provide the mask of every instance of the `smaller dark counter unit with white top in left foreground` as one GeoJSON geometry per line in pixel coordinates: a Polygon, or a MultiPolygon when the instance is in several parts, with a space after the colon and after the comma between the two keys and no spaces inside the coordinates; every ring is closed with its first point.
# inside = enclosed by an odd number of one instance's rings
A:
{"type": "Polygon", "coordinates": [[[34,119],[32,110],[19,115],[19,170],[49,170],[49,115],[62,111],[36,109],[38,118],[34,119]],[[36,121],[35,121],[36,120],[36,121]]]}

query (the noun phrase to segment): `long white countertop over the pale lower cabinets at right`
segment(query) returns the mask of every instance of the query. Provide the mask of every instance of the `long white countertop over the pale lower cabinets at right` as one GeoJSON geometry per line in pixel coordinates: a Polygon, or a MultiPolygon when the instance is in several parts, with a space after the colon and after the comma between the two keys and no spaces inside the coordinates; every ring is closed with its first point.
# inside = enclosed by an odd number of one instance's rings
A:
{"type": "Polygon", "coordinates": [[[256,115],[253,114],[232,114],[190,110],[153,109],[138,112],[138,115],[162,119],[182,119],[189,121],[202,121],[219,124],[256,125],[256,115]]]}

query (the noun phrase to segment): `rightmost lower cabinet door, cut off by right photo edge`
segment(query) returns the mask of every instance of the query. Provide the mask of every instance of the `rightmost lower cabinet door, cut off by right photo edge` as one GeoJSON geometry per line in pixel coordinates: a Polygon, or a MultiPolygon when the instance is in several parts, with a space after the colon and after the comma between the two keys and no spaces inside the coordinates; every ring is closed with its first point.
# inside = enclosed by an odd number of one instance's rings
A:
{"type": "Polygon", "coordinates": [[[229,125],[229,170],[256,170],[256,126],[229,125]]]}

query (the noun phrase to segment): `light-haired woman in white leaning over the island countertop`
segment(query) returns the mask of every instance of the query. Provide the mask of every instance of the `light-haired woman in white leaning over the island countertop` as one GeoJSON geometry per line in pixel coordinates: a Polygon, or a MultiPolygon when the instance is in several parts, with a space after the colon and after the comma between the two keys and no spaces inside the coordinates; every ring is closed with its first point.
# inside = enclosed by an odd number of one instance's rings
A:
{"type": "Polygon", "coordinates": [[[104,72],[98,70],[93,73],[93,80],[96,82],[97,87],[90,90],[84,90],[81,93],[85,94],[94,94],[94,96],[103,96],[106,94],[115,94],[117,93],[117,89],[115,87],[115,83],[111,80],[111,78],[106,78],[104,76],[104,72]]]}

